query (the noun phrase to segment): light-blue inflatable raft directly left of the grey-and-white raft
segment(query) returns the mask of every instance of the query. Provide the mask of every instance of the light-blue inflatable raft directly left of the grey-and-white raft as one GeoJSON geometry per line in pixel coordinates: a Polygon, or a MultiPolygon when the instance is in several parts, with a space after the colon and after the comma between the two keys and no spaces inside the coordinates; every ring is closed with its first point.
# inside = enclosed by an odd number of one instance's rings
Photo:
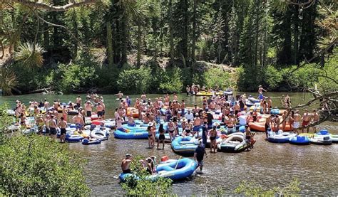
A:
{"type": "Polygon", "coordinates": [[[171,142],[171,147],[176,154],[192,156],[198,147],[198,139],[195,139],[195,137],[179,136],[171,142]]]}

